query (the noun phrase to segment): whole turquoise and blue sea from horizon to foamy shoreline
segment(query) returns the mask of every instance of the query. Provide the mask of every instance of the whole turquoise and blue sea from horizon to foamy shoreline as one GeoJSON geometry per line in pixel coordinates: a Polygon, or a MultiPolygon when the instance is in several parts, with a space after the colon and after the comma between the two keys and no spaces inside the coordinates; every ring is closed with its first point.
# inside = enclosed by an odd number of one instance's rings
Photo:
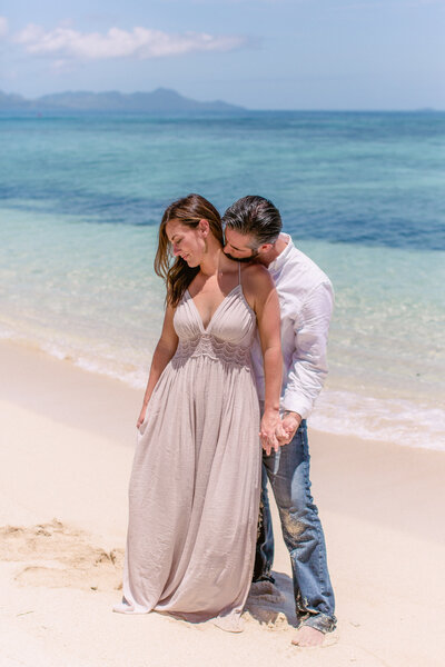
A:
{"type": "Polygon", "coordinates": [[[314,427],[445,449],[445,113],[0,117],[0,336],[144,386],[177,197],[269,197],[330,276],[314,427]]]}

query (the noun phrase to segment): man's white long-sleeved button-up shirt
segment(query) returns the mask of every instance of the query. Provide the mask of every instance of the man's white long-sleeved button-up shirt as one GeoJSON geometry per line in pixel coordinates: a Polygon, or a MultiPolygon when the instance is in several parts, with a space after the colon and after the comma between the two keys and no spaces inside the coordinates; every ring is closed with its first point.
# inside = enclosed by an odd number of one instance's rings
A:
{"type": "MultiPolygon", "coordinates": [[[[281,311],[283,387],[280,407],[305,419],[327,376],[326,346],[334,307],[329,278],[288,235],[287,246],[268,266],[281,311]]],[[[258,396],[264,401],[265,381],[259,337],[251,349],[258,396]]]]}

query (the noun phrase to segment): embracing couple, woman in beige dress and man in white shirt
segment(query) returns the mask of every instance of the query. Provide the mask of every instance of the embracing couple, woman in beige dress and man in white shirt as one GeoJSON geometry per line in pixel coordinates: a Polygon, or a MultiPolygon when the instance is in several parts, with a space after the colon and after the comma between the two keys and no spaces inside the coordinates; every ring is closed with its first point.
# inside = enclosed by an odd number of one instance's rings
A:
{"type": "Polygon", "coordinates": [[[335,627],[334,594],[305,417],[327,372],[332,286],[280,233],[267,199],[238,200],[222,222],[225,239],[218,211],[189,195],[159,228],[167,307],[138,419],[115,610],[239,631],[254,566],[255,580],[273,581],[268,477],[291,559],[294,644],[318,645],[335,627]]]}

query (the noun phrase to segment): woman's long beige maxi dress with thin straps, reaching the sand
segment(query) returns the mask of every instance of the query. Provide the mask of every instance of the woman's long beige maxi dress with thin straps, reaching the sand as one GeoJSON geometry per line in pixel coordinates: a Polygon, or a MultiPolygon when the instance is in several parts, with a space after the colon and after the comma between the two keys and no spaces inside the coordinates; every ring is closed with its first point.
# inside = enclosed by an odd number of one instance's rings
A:
{"type": "Polygon", "coordinates": [[[255,313],[240,282],[204,328],[186,291],[179,344],[140,427],[129,489],[123,598],[116,611],[165,611],[241,629],[255,557],[259,408],[255,313]]]}

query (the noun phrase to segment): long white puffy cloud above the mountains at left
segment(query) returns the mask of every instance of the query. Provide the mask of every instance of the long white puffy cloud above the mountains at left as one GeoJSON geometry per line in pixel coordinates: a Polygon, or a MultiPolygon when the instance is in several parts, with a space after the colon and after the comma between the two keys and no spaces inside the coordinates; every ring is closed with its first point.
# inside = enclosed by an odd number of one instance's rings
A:
{"type": "Polygon", "coordinates": [[[44,31],[30,23],[18,32],[13,41],[22,44],[29,53],[101,60],[109,58],[162,58],[192,51],[231,51],[247,43],[236,36],[216,37],[205,32],[171,34],[148,28],[134,28],[131,32],[110,28],[106,34],[82,33],[68,27],[44,31]]]}

